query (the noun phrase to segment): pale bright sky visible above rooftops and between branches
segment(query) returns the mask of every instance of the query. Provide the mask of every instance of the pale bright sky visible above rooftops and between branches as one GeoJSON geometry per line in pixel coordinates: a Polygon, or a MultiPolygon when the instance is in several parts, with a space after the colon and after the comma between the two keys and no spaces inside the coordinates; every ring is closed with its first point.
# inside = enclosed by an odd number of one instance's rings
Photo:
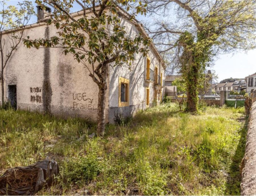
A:
{"type": "MultiPolygon", "coordinates": [[[[8,5],[17,5],[18,2],[18,0],[10,0],[8,5]]],[[[78,11],[80,8],[74,7],[73,9],[74,11],[78,11]]],[[[36,22],[37,17],[32,17],[31,23],[36,22]]],[[[218,55],[218,59],[215,61],[212,69],[218,75],[218,81],[225,78],[244,78],[251,75],[256,72],[256,49],[248,52],[218,55]]]]}

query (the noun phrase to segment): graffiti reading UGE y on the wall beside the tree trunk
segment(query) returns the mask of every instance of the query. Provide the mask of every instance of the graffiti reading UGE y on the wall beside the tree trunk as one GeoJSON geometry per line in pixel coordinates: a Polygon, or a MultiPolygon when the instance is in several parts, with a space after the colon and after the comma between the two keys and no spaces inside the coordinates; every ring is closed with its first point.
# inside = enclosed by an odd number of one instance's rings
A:
{"type": "Polygon", "coordinates": [[[86,92],[73,93],[73,110],[97,110],[93,99],[87,98],[86,92]]]}

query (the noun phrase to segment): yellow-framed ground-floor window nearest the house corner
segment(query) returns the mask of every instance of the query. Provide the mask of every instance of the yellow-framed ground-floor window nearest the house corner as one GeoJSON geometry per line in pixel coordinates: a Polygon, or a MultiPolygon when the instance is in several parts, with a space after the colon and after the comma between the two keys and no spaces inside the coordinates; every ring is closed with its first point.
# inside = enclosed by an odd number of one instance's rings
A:
{"type": "Polygon", "coordinates": [[[129,83],[126,78],[119,77],[118,106],[129,106],[129,83]]]}

